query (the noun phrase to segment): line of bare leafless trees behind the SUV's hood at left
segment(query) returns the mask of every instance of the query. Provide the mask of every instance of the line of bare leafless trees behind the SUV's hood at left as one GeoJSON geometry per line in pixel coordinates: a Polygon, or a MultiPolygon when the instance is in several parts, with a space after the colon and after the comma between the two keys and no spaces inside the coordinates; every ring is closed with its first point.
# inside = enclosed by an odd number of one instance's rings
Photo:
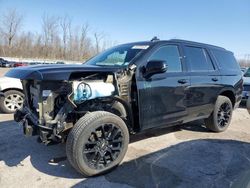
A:
{"type": "Polygon", "coordinates": [[[44,14],[39,33],[20,32],[22,16],[15,10],[0,21],[0,56],[83,60],[112,45],[101,32],[92,38],[87,23],[72,26],[68,16],[59,19],[44,14]]]}

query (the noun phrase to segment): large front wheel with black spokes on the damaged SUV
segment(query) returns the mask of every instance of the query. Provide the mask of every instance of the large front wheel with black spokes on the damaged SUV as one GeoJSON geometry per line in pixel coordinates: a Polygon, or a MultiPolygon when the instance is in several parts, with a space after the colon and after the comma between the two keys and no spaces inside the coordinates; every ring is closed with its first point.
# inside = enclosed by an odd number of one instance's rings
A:
{"type": "Polygon", "coordinates": [[[74,125],[67,138],[66,154],[70,164],[89,177],[119,165],[128,144],[124,121],[112,113],[96,111],[87,113],[74,125]]]}

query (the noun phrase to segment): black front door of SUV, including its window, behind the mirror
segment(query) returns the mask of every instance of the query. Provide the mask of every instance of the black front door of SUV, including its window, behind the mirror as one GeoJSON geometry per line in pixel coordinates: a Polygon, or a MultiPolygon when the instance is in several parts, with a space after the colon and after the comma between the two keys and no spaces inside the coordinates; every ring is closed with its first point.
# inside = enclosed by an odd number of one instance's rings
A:
{"type": "Polygon", "coordinates": [[[138,70],[141,129],[181,122],[187,116],[186,95],[190,77],[183,66],[180,47],[177,44],[160,46],[147,62],[153,60],[165,61],[168,68],[165,73],[154,74],[149,79],[138,70]]]}

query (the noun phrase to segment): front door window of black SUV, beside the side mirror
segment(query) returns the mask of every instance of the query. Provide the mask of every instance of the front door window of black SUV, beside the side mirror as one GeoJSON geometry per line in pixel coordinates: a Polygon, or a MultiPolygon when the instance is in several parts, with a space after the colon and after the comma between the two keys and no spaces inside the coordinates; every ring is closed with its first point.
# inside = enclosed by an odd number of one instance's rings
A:
{"type": "Polygon", "coordinates": [[[167,72],[180,72],[181,61],[178,46],[167,45],[160,47],[150,58],[149,60],[161,60],[166,61],[168,70],[167,72]]]}

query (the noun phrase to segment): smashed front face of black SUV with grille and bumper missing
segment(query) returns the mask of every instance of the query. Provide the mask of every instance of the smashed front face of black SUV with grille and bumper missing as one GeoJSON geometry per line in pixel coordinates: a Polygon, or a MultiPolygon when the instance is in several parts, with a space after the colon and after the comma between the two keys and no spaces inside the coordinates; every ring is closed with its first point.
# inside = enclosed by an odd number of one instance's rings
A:
{"type": "Polygon", "coordinates": [[[72,127],[67,119],[73,111],[71,84],[67,82],[22,81],[25,102],[14,120],[23,125],[27,136],[39,135],[43,142],[63,139],[63,131],[72,127]]]}

